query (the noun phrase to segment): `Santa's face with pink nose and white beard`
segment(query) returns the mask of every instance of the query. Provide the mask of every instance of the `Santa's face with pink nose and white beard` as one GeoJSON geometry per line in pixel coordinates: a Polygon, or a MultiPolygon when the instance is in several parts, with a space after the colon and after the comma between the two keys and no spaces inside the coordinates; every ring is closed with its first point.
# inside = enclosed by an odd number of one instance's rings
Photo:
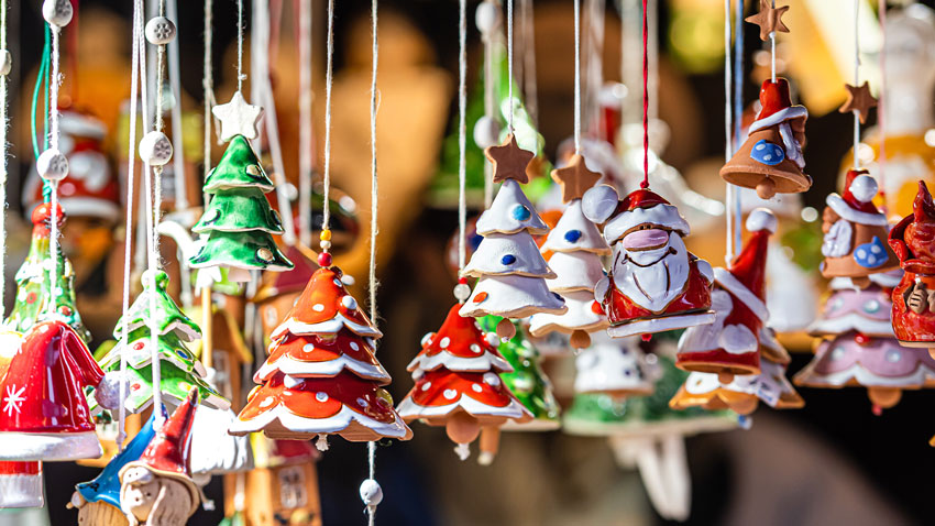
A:
{"type": "Polygon", "coordinates": [[[689,251],[679,232],[640,224],[614,244],[614,284],[634,303],[659,313],[682,295],[689,251]]]}

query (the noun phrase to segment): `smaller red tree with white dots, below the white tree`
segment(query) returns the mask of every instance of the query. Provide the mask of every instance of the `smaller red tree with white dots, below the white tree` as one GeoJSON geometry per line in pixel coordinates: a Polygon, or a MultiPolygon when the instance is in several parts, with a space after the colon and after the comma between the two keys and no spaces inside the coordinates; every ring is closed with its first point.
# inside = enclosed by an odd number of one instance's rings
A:
{"type": "Polygon", "coordinates": [[[497,351],[499,337],[484,335],[474,318],[458,314],[460,308],[452,307],[438,332],[422,339],[422,350],[408,366],[416,385],[398,410],[407,423],[420,419],[444,426],[461,460],[468,459],[468,445],[483,428],[481,463],[490,463],[496,454],[499,426],[507,420],[529,421],[532,414],[497,374],[513,372],[497,351]]]}

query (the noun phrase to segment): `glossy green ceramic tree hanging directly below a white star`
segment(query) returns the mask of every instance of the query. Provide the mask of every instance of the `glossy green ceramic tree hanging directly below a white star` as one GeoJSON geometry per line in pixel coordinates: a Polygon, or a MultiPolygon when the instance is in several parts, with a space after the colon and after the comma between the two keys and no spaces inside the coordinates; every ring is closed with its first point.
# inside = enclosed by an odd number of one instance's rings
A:
{"type": "Polygon", "coordinates": [[[250,142],[234,135],[205,182],[204,191],[212,197],[191,228],[201,239],[189,265],[212,269],[213,281],[220,281],[219,269],[227,267],[232,282],[250,281],[250,271],[290,270],[293,263],[273,240],[273,234],[283,233],[279,215],[265,196],[273,188],[250,142]]]}

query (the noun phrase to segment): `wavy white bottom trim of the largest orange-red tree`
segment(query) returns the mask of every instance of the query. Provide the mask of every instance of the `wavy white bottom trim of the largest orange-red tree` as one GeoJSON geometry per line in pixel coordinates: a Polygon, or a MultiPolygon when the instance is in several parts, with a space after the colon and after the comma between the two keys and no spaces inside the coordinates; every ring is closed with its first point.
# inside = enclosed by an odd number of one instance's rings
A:
{"type": "Polygon", "coordinates": [[[250,420],[241,420],[235,418],[231,423],[230,429],[232,435],[244,435],[248,432],[262,431],[273,420],[279,420],[279,424],[294,432],[306,432],[309,435],[340,432],[348,428],[352,421],[356,421],[361,426],[374,431],[377,435],[389,438],[403,438],[409,430],[406,424],[398,415],[392,424],[384,424],[375,420],[366,415],[358,413],[348,406],[341,406],[341,410],[328,418],[305,418],[290,412],[286,406],[279,404],[276,407],[264,412],[250,420]]]}

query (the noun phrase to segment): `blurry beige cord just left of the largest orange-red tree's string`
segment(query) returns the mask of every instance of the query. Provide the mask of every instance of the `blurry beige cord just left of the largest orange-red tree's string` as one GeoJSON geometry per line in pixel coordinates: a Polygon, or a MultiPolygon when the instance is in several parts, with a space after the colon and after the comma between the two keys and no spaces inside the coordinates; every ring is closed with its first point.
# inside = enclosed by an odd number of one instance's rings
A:
{"type": "Polygon", "coordinates": [[[299,240],[311,246],[311,0],[299,0],[299,240]]]}

